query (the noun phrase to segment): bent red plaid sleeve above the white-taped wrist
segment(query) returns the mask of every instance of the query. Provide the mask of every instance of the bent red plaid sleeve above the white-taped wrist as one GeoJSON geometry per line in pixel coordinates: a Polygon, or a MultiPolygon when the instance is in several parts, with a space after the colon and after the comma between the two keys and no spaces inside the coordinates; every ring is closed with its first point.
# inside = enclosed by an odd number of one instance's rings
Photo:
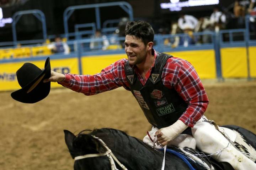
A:
{"type": "Polygon", "coordinates": [[[186,60],[169,58],[162,73],[162,81],[167,88],[174,88],[188,103],[187,110],[179,119],[189,127],[193,127],[203,116],[209,103],[194,67],[186,60]]]}

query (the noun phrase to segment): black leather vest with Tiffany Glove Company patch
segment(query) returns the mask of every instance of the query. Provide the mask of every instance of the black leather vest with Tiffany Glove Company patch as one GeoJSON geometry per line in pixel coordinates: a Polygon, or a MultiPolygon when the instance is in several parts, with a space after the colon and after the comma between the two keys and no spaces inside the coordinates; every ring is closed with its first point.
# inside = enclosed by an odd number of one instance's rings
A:
{"type": "Polygon", "coordinates": [[[159,129],[175,123],[188,107],[188,104],[174,89],[167,89],[162,84],[162,69],[170,57],[172,56],[158,53],[155,66],[144,86],[140,83],[129,62],[124,65],[132,94],[137,99],[149,123],[159,129]]]}

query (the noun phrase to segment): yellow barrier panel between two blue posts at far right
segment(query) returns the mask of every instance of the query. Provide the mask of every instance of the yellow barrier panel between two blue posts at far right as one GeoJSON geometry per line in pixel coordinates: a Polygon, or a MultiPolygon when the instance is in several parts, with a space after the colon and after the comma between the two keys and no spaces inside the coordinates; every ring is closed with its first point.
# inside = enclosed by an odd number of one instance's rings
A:
{"type": "Polygon", "coordinates": [[[220,49],[223,78],[247,78],[245,47],[220,49]]]}

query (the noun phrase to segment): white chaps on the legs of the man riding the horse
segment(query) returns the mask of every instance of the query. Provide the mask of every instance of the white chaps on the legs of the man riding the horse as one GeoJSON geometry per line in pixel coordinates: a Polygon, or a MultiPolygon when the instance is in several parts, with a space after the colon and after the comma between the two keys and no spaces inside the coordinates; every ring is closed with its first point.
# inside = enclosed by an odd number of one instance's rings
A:
{"type": "MultiPolygon", "coordinates": [[[[256,170],[256,164],[247,158],[244,154],[238,151],[231,143],[215,128],[213,124],[207,122],[207,118],[203,116],[197,121],[192,130],[192,136],[181,134],[178,135],[171,144],[176,147],[190,147],[197,146],[202,152],[206,154],[213,154],[213,158],[218,162],[228,162],[235,170],[256,170]]],[[[236,134],[227,128],[219,128],[222,132],[235,141],[236,134]]],[[[157,128],[152,128],[148,135],[143,139],[143,142],[153,146],[151,139],[154,138],[157,128]],[[151,137],[149,137],[151,136],[151,137]]]]}

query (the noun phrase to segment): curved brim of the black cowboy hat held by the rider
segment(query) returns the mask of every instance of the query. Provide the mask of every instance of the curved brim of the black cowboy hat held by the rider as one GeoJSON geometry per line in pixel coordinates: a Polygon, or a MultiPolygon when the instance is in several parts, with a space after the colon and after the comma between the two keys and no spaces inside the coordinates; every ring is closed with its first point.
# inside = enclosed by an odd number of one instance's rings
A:
{"type": "Polygon", "coordinates": [[[47,83],[43,82],[44,79],[50,78],[50,72],[50,58],[48,57],[42,73],[22,89],[12,92],[11,97],[22,103],[36,103],[43,100],[50,92],[50,81],[47,83]]]}

